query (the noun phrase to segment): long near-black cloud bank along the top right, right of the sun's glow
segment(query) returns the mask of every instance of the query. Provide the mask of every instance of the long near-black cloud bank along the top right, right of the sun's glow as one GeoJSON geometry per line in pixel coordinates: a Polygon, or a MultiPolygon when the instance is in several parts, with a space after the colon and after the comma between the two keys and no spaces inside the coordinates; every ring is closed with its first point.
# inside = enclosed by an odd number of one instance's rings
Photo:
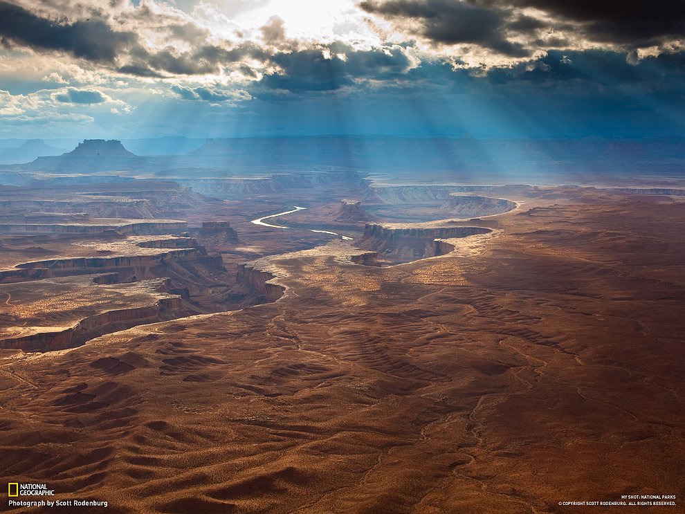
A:
{"type": "MultiPolygon", "coordinates": [[[[479,44],[514,57],[526,49],[511,42],[512,32],[533,37],[542,29],[572,30],[586,41],[633,48],[685,35],[683,0],[364,0],[359,6],[393,21],[418,22],[417,35],[435,43],[479,44]],[[546,17],[523,16],[515,8],[535,8],[546,17]]],[[[554,48],[556,41],[537,38],[536,44],[554,48]]]]}

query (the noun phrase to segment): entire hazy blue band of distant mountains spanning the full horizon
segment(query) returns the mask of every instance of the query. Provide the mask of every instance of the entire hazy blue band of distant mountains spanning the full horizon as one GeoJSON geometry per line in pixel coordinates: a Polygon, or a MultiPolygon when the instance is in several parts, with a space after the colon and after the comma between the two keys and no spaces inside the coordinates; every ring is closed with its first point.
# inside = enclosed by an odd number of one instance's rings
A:
{"type": "MultiPolygon", "coordinates": [[[[185,140],[185,138],[181,138],[185,140]]],[[[179,143],[183,141],[179,140],[179,143]]],[[[170,138],[140,140],[149,151],[163,149],[170,138]],[[147,141],[147,142],[146,142],[147,141]],[[150,143],[152,141],[152,143],[150,143]],[[156,142],[156,143],[155,143],[156,142]]],[[[190,147],[198,140],[185,140],[190,147]],[[189,143],[190,142],[190,143],[189,143]],[[191,144],[192,143],[192,144],[191,144]]],[[[576,177],[685,174],[685,139],[487,140],[320,136],[292,138],[208,139],[185,155],[140,156],[118,140],[84,140],[73,151],[40,140],[27,142],[39,156],[30,163],[5,166],[30,172],[145,172],[170,177],[225,177],[255,173],[354,169],[421,181],[423,172],[454,181],[488,183],[525,181],[540,176],[566,181],[576,177]],[[29,144],[30,143],[30,144],[29,144]]],[[[2,152],[8,150],[0,149],[2,152]]],[[[17,154],[19,155],[19,154],[17,154]]],[[[17,159],[19,160],[19,159],[17,159]]],[[[17,162],[17,160],[6,162],[17,162]]]]}

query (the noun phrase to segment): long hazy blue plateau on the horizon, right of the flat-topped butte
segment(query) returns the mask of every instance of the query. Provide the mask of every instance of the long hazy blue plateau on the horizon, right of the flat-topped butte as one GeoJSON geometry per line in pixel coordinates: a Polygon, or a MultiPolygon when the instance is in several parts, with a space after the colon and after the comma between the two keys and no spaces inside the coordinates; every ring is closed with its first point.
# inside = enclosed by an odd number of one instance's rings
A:
{"type": "Polygon", "coordinates": [[[487,174],[620,174],[668,168],[685,172],[685,139],[497,140],[322,136],[208,139],[189,156],[222,162],[228,169],[334,167],[385,174],[422,170],[487,174]]]}

